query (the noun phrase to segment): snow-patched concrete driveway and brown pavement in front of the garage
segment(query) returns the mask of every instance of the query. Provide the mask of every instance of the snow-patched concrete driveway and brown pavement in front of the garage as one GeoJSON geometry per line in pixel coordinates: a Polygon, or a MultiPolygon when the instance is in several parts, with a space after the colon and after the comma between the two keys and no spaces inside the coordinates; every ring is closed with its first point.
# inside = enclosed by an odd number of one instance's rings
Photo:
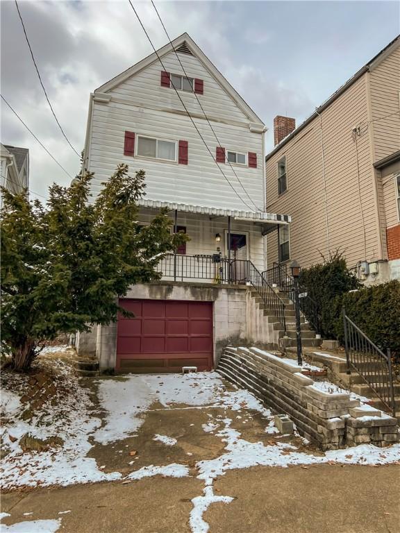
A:
{"type": "Polygon", "coordinates": [[[3,493],[2,531],[399,531],[398,448],[319,452],[216,373],[81,386],[101,419],[85,461],[115,480],[3,493]]]}

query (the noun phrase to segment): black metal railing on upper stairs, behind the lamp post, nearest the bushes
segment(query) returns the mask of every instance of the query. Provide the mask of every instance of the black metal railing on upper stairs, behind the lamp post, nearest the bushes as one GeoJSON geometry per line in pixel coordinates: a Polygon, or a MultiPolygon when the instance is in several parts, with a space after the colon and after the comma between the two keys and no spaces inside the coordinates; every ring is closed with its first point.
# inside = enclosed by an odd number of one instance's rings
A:
{"type": "MultiPolygon", "coordinates": [[[[269,285],[276,285],[282,291],[288,293],[289,298],[294,301],[294,280],[289,273],[287,264],[274,262],[271,269],[263,272],[263,275],[269,282],[269,285]]],[[[322,317],[319,312],[318,303],[309,296],[306,287],[299,287],[299,304],[300,310],[306,317],[308,323],[315,332],[322,333],[322,317]]]]}

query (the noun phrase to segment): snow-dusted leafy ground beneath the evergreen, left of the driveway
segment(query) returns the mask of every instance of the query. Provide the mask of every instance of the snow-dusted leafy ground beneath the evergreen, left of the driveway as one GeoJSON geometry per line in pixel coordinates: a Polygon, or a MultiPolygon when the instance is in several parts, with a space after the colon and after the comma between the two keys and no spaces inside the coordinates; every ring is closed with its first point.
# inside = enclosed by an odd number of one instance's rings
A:
{"type": "MultiPolygon", "coordinates": [[[[1,430],[2,448],[8,451],[1,461],[3,489],[110,481],[122,477],[118,472],[103,473],[94,458],[85,457],[92,448],[88,440],[90,434],[100,427],[101,420],[92,416],[88,391],[70,375],[68,366],[61,362],[57,366],[63,370],[58,381],[63,392],[58,391],[52,398],[54,405],[48,400],[40,412],[35,411],[33,418],[26,421],[17,416],[22,412],[22,404],[18,405],[15,395],[5,388],[8,378],[14,379],[13,375],[2,373],[1,411],[8,414],[8,421],[1,430]],[[42,452],[23,452],[19,439],[25,434],[41,440],[60,437],[63,446],[42,452]]],[[[17,376],[17,380],[20,378],[17,376]]]]}

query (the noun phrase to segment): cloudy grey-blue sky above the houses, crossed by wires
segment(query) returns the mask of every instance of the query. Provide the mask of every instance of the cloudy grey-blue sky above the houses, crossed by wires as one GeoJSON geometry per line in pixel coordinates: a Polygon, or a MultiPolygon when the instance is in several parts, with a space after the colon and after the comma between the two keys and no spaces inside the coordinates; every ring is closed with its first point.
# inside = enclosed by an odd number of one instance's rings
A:
{"type": "MultiPolygon", "coordinates": [[[[171,37],[188,32],[269,128],[297,124],[389,43],[397,1],[156,2],[171,37]]],[[[149,2],[135,2],[157,48],[167,40],[149,2]]],[[[74,176],[79,160],[51,115],[14,1],[1,1],[1,94],[74,176]]],[[[128,0],[19,1],[44,86],[67,137],[83,149],[90,92],[151,53],[128,0]]],[[[30,151],[31,185],[46,195],[69,177],[1,101],[1,142],[30,151]]],[[[34,195],[33,195],[34,197],[34,195]]]]}

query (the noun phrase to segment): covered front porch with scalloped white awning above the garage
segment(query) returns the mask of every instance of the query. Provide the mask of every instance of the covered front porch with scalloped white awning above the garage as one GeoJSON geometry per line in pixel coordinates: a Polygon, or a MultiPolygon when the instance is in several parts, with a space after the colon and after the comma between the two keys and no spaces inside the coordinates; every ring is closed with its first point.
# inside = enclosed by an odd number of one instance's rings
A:
{"type": "Polygon", "coordinates": [[[262,211],[205,208],[142,199],[140,223],[147,224],[160,208],[167,208],[172,231],[189,240],[158,265],[163,280],[208,283],[246,283],[251,269],[266,269],[269,228],[288,226],[290,217],[262,211]]]}

